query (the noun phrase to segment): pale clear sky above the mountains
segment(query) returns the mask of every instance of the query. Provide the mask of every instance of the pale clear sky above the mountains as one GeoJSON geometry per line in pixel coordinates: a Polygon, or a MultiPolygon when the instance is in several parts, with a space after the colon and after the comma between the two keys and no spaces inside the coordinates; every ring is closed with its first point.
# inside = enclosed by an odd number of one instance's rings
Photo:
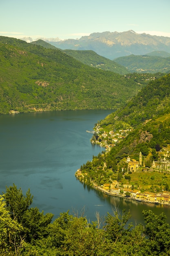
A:
{"type": "Polygon", "coordinates": [[[128,30],[170,37],[170,0],[0,0],[0,36],[77,39],[128,30]]]}

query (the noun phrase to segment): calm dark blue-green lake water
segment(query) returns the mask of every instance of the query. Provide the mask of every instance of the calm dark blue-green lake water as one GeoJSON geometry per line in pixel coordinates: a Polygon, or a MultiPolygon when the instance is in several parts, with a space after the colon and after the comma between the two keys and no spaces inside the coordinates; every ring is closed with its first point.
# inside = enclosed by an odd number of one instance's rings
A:
{"type": "Polygon", "coordinates": [[[104,195],[75,178],[75,172],[104,148],[92,145],[91,133],[110,110],[38,112],[0,116],[0,193],[13,183],[23,193],[30,188],[33,207],[57,218],[61,212],[106,216],[119,207],[130,210],[133,222],[143,222],[142,211],[162,211],[170,223],[170,207],[144,204],[104,195]]]}

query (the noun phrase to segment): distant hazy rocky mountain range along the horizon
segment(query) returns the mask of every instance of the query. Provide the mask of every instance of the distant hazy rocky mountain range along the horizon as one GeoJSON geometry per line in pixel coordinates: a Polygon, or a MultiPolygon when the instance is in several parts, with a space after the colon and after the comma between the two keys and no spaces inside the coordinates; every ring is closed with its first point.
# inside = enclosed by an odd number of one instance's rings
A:
{"type": "MultiPolygon", "coordinates": [[[[21,38],[31,42],[31,38],[21,38]]],[[[137,34],[133,30],[124,32],[102,32],[82,36],[80,39],[38,38],[60,49],[92,50],[111,60],[130,54],[144,55],[153,51],[170,53],[170,38],[137,34]]],[[[36,39],[36,40],[38,40],[36,39]]]]}

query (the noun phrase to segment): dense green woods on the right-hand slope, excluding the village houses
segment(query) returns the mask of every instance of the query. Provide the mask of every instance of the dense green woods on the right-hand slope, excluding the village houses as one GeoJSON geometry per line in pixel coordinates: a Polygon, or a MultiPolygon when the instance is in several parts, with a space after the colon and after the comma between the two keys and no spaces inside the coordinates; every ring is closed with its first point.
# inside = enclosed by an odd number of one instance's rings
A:
{"type": "MultiPolygon", "coordinates": [[[[81,166],[82,173],[86,173],[84,182],[101,186],[113,180],[121,181],[122,168],[127,171],[124,157],[139,161],[140,151],[150,167],[153,160],[161,157],[159,150],[170,145],[170,74],[150,82],[124,108],[100,121],[100,126],[105,131],[132,130],[109,152],[102,152],[81,166]]],[[[163,187],[166,190],[166,183],[163,187]]]]}

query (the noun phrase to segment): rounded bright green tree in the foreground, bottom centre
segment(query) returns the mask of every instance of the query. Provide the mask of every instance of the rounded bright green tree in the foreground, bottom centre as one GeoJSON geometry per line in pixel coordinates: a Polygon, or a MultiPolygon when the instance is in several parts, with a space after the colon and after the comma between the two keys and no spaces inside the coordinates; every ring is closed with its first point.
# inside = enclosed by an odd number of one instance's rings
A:
{"type": "Polygon", "coordinates": [[[97,256],[103,246],[102,229],[97,222],[88,223],[83,216],[60,213],[49,225],[48,245],[56,250],[55,255],[97,256]]]}

